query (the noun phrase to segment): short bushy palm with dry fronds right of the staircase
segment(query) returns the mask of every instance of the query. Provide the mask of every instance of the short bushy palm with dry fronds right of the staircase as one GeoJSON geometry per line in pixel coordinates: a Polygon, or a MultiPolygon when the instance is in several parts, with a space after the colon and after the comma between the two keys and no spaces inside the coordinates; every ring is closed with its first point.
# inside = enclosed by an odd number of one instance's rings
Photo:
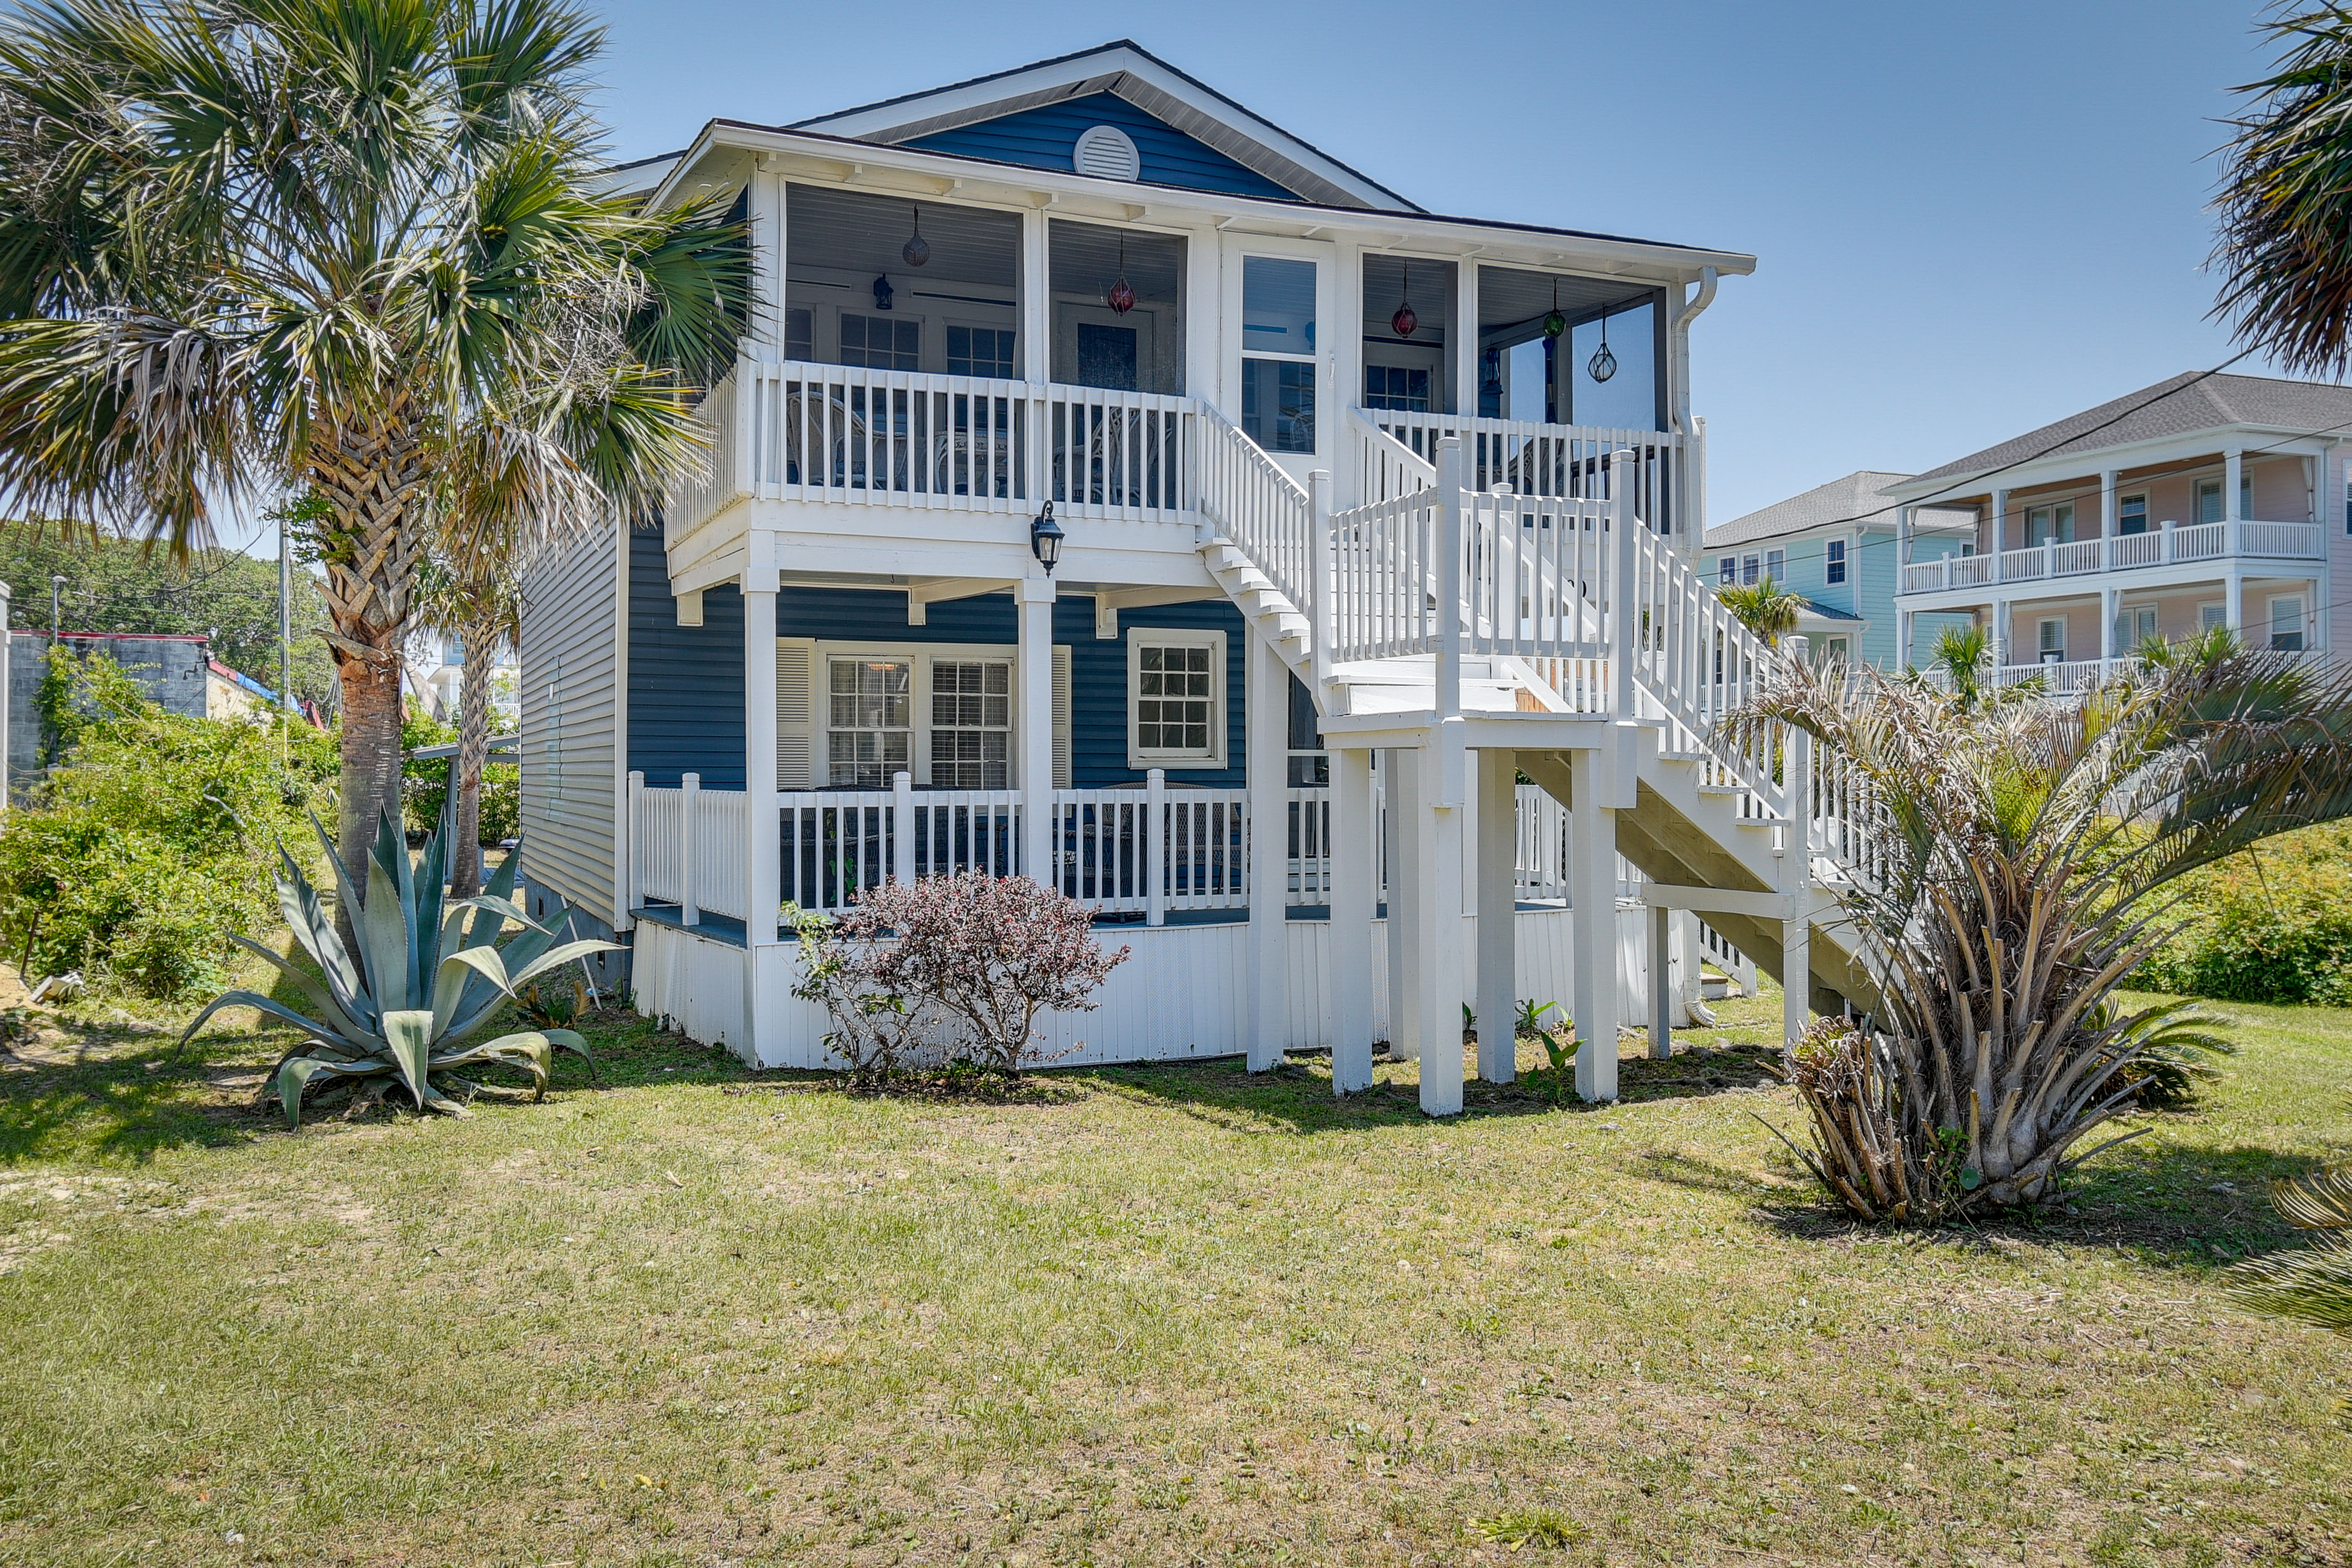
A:
{"type": "Polygon", "coordinates": [[[2091,1131],[2218,1046],[2112,999],[2171,884],[2352,813],[2352,684],[2267,651],[1978,705],[1785,661],[1748,717],[1816,738],[1879,858],[1842,893],[1872,1016],[1823,1020],[1792,1065],[1809,1159],[1867,1218],[2049,1201],[2091,1131]]]}

